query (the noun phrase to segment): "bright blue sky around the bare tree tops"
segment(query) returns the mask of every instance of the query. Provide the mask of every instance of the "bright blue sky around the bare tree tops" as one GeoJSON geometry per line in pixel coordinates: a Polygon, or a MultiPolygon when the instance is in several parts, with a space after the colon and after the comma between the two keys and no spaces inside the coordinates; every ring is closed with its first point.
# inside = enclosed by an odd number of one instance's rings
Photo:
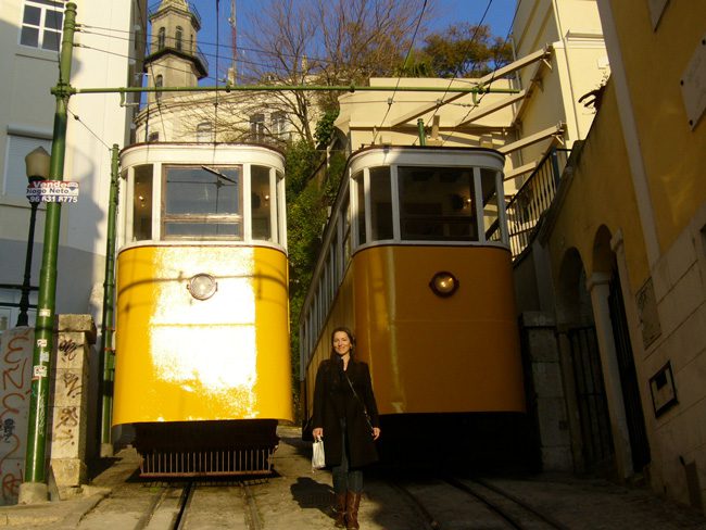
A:
{"type": "MultiPolygon", "coordinates": [[[[305,2],[306,0],[300,0],[305,2]]],[[[429,0],[429,4],[436,5],[438,21],[434,28],[445,28],[450,24],[469,22],[478,24],[486,13],[483,24],[491,26],[494,35],[505,38],[512,24],[515,4],[517,0],[429,0]]],[[[216,0],[191,0],[201,15],[202,28],[199,33],[199,46],[207,55],[211,75],[215,72],[215,45],[216,42],[216,0]]],[[[219,64],[229,61],[229,51],[225,46],[230,42],[230,0],[219,0],[218,16],[218,42],[220,43],[219,64]]],[[[253,10],[259,9],[262,0],[236,0],[239,31],[248,25],[248,18],[253,10]]],[[[239,43],[241,40],[239,39],[239,43]]],[[[212,84],[213,79],[204,79],[212,84]]]]}

